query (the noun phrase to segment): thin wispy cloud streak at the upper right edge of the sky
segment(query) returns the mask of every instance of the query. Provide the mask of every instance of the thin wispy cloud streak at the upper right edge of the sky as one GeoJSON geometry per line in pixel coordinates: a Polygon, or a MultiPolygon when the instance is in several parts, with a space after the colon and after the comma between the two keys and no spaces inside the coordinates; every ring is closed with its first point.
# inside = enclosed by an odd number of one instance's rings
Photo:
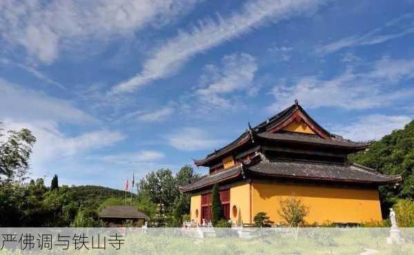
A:
{"type": "Polygon", "coordinates": [[[404,27],[404,28],[393,28],[393,32],[383,32],[386,28],[391,26],[398,25],[401,21],[405,21],[406,19],[412,19],[412,14],[405,14],[402,17],[397,19],[393,19],[386,23],[385,26],[382,28],[376,28],[367,32],[366,34],[362,34],[359,36],[352,36],[352,37],[344,37],[337,41],[333,41],[332,43],[328,43],[326,45],[319,45],[319,47],[315,50],[317,54],[328,54],[332,52],[336,52],[337,50],[341,50],[343,48],[350,48],[357,45],[373,45],[377,43],[384,43],[386,41],[397,39],[400,37],[404,37],[407,34],[414,33],[414,24],[411,21],[411,26],[404,27]],[[395,30],[401,30],[400,32],[394,32],[395,30]]]}

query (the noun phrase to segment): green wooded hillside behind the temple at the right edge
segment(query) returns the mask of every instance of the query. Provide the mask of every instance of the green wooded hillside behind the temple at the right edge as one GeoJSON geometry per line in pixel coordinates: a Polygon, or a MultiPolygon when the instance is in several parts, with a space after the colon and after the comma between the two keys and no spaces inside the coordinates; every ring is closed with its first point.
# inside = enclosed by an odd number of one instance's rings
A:
{"type": "MultiPolygon", "coordinates": [[[[414,198],[414,121],[403,130],[376,141],[366,152],[350,156],[350,160],[372,167],[383,174],[400,174],[402,184],[380,188],[384,207],[395,203],[397,198],[414,198]]],[[[388,212],[388,211],[387,211],[388,212]]]]}

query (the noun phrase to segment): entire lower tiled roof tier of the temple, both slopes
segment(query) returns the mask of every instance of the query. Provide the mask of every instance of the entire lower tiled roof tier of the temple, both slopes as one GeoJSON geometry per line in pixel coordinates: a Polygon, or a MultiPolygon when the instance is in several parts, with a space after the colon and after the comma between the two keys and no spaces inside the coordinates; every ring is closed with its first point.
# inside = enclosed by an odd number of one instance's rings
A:
{"type": "Polygon", "coordinates": [[[215,183],[260,176],[270,179],[372,185],[386,185],[402,180],[401,176],[380,174],[376,170],[355,163],[339,165],[309,161],[270,161],[256,156],[248,163],[241,163],[215,174],[207,174],[190,185],[182,187],[181,190],[193,192],[208,188],[215,183]]]}

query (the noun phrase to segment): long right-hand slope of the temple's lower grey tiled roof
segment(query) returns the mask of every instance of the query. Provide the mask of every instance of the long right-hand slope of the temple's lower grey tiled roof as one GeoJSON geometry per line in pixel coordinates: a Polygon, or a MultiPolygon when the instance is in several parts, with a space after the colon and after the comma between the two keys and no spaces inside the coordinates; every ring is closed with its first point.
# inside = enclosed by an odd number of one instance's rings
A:
{"type": "Polygon", "coordinates": [[[261,161],[247,167],[248,174],[286,179],[309,179],[352,183],[387,184],[401,181],[401,176],[389,176],[362,165],[333,165],[310,162],[261,161]]]}

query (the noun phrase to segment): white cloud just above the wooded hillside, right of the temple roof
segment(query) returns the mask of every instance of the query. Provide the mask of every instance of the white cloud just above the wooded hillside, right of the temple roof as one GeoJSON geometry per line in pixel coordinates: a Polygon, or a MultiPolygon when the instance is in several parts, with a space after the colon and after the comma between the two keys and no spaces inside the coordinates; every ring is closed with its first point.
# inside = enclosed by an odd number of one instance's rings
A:
{"type": "Polygon", "coordinates": [[[379,140],[382,136],[390,134],[393,130],[404,128],[404,125],[412,121],[410,116],[387,116],[373,114],[361,116],[358,121],[348,126],[333,128],[335,134],[341,134],[346,139],[353,141],[379,140]]]}

